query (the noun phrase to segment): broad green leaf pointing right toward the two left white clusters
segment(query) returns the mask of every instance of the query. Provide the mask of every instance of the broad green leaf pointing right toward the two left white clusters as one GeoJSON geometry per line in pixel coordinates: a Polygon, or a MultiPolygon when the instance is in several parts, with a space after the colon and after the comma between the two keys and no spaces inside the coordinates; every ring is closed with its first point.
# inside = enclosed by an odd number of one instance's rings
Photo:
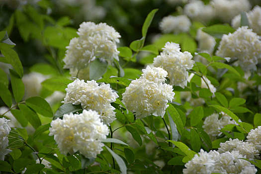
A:
{"type": "Polygon", "coordinates": [[[39,96],[33,96],[30,98],[27,98],[25,100],[25,104],[27,106],[29,106],[30,108],[32,108],[35,112],[37,112],[43,116],[53,117],[53,111],[51,109],[51,106],[45,99],[43,99],[39,96]]]}

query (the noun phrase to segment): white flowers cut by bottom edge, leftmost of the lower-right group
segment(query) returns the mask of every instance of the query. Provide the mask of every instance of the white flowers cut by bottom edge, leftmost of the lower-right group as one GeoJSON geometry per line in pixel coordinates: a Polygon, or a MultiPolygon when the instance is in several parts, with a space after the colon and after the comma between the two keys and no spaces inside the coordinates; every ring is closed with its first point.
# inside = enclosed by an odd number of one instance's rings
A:
{"type": "Polygon", "coordinates": [[[202,149],[189,162],[185,164],[183,174],[211,174],[215,167],[212,156],[202,149]]]}

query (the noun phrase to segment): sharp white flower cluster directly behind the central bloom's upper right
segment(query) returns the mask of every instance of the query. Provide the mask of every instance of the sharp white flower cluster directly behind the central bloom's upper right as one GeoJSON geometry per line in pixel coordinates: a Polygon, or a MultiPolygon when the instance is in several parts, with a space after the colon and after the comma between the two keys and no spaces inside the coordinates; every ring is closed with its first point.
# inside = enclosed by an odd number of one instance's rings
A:
{"type": "Polygon", "coordinates": [[[153,66],[168,72],[171,85],[184,88],[187,85],[187,70],[192,69],[194,64],[192,55],[187,51],[180,52],[179,44],[173,42],[167,42],[164,47],[163,52],[154,58],[153,66]]]}

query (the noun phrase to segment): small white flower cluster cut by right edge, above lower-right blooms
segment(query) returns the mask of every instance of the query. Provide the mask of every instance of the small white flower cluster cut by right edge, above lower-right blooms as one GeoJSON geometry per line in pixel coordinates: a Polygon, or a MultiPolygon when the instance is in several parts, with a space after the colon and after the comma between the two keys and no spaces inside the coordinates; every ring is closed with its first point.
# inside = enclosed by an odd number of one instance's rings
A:
{"type": "Polygon", "coordinates": [[[261,151],[261,126],[256,129],[251,129],[248,133],[247,139],[249,143],[253,143],[256,149],[261,151]]]}

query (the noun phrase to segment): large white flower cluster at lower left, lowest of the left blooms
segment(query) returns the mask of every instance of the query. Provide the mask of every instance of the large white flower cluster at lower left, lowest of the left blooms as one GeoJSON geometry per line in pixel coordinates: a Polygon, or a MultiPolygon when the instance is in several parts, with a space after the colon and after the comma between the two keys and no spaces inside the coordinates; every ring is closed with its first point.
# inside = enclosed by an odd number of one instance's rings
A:
{"type": "Polygon", "coordinates": [[[108,127],[96,111],[83,110],[81,114],[65,114],[63,119],[51,122],[50,136],[58,144],[60,152],[74,154],[79,151],[86,158],[96,158],[104,146],[101,141],[109,134],[108,127]]]}

